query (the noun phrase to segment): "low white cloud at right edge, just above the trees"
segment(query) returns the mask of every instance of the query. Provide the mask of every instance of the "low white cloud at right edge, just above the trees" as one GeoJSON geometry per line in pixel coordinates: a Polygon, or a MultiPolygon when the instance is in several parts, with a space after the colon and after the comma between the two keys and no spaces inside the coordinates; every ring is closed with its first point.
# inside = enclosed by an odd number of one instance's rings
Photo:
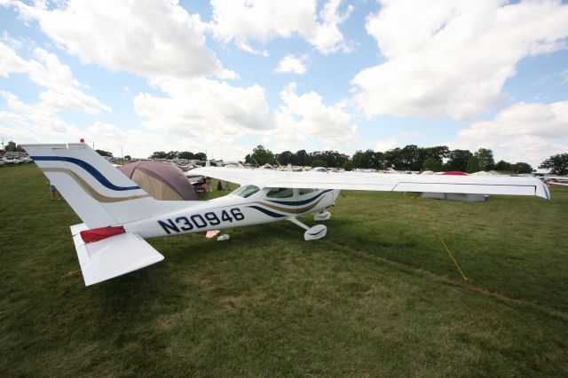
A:
{"type": "Polygon", "coordinates": [[[452,148],[492,148],[496,160],[527,161],[536,168],[553,154],[568,151],[568,101],[554,104],[518,103],[493,121],[475,122],[459,131],[452,148]]]}

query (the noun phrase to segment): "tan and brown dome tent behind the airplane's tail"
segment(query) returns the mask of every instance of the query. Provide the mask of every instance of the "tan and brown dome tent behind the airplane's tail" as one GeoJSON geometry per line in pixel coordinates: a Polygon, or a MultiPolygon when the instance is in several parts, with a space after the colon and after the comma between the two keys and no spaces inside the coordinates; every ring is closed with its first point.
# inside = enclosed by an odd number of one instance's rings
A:
{"type": "Polygon", "coordinates": [[[174,165],[160,161],[134,161],[117,168],[156,200],[197,200],[197,194],[184,172],[174,165]]]}

